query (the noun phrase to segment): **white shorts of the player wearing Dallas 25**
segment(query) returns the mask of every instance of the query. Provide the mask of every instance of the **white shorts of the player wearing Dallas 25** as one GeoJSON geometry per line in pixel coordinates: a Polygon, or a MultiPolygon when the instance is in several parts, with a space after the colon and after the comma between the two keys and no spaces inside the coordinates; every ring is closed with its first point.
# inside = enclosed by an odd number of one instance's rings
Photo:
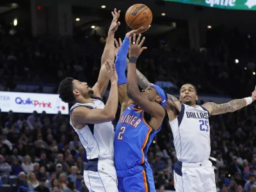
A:
{"type": "Polygon", "coordinates": [[[174,187],[177,192],[216,192],[215,173],[211,161],[181,163],[174,166],[174,187]]]}

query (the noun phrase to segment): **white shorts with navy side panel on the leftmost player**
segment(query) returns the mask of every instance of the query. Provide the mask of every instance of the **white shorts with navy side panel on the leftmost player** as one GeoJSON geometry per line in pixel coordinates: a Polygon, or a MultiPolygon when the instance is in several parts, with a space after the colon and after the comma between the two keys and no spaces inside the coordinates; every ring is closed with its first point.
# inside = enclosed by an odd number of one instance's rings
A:
{"type": "Polygon", "coordinates": [[[89,161],[84,169],[84,183],[89,191],[118,192],[114,161],[89,161]]]}

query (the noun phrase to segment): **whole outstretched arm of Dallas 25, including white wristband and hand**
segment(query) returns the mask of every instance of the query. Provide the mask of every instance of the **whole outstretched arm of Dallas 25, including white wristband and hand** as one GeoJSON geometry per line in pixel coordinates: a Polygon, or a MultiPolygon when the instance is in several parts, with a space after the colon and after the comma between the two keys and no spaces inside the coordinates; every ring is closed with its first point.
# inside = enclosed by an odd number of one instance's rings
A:
{"type": "Polygon", "coordinates": [[[209,111],[211,115],[219,115],[228,112],[234,112],[241,108],[244,108],[248,104],[251,104],[256,99],[256,87],[252,92],[252,97],[246,97],[244,99],[235,99],[225,104],[216,104],[214,102],[207,102],[202,106],[209,111]]]}

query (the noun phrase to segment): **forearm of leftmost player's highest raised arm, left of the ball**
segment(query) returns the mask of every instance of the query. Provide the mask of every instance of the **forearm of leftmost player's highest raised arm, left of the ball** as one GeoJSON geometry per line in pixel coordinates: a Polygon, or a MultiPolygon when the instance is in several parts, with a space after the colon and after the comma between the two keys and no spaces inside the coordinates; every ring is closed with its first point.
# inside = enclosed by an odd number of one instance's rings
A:
{"type": "Polygon", "coordinates": [[[103,65],[106,60],[109,60],[109,63],[114,63],[114,60],[115,60],[114,36],[115,36],[115,33],[113,31],[109,31],[108,38],[106,40],[106,45],[101,57],[101,65],[103,65]]]}

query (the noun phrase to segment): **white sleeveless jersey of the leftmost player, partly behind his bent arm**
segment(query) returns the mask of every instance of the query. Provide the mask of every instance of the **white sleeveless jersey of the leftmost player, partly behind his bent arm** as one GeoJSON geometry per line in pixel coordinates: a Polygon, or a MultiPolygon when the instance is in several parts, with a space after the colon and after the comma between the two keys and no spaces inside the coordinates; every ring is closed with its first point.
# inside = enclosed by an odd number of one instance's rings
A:
{"type": "Polygon", "coordinates": [[[114,126],[112,122],[102,124],[87,124],[83,129],[76,129],[71,120],[71,113],[74,108],[86,107],[90,109],[103,109],[102,100],[92,99],[93,103],[76,103],[70,109],[70,125],[77,132],[83,147],[86,150],[87,159],[114,159],[114,126]]]}

